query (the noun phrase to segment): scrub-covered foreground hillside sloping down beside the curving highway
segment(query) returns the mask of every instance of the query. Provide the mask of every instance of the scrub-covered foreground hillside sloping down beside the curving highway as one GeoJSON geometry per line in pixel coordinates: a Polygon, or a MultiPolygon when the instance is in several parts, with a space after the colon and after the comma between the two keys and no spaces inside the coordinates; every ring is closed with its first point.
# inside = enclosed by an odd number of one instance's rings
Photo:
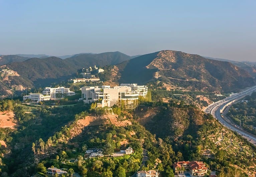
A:
{"type": "Polygon", "coordinates": [[[256,159],[251,154],[255,154],[255,146],[223,127],[212,115],[206,115],[194,107],[181,107],[179,104],[147,109],[144,107],[135,114],[140,116],[137,121],[143,123],[152,134],[156,134],[159,141],[168,139],[174,151],[182,154],[181,159],[202,159],[208,165],[214,165],[220,176],[234,176],[228,169],[233,169],[233,172],[238,169],[244,174],[254,175],[256,159]],[[150,113],[152,111],[153,114],[150,113]],[[240,163],[241,161],[244,163],[240,163]],[[223,168],[219,170],[217,164],[223,168]]]}

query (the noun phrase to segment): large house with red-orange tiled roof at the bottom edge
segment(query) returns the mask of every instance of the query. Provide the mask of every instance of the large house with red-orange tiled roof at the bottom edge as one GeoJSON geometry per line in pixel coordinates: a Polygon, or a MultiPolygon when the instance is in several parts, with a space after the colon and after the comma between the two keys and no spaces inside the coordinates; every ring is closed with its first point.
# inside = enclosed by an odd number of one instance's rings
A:
{"type": "Polygon", "coordinates": [[[207,168],[202,161],[181,161],[173,164],[174,172],[179,173],[180,171],[177,168],[184,167],[191,175],[202,175],[204,176],[207,173],[207,168]]]}

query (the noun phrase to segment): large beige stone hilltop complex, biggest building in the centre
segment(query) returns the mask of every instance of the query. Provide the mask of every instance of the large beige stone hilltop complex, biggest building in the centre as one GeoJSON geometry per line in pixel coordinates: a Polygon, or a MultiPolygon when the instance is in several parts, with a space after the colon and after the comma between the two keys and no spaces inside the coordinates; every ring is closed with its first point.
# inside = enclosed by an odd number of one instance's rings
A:
{"type": "Polygon", "coordinates": [[[147,86],[137,84],[121,84],[120,86],[95,86],[82,87],[82,99],[85,103],[98,101],[98,107],[111,107],[118,101],[124,100],[127,104],[132,104],[139,96],[146,97],[147,86]]]}

